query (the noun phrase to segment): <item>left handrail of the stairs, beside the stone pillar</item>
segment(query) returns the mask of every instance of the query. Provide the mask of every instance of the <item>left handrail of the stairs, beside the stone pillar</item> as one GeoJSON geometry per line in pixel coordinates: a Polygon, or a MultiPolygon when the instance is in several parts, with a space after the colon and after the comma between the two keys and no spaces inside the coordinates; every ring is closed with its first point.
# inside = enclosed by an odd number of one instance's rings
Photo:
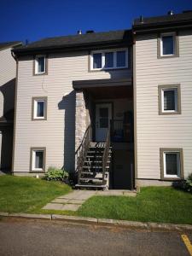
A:
{"type": "Polygon", "coordinates": [[[84,132],[84,137],[82,142],[79,145],[79,148],[76,150],[75,155],[77,159],[77,171],[78,171],[78,183],[80,181],[81,172],[84,166],[84,160],[86,159],[87,151],[90,147],[90,138],[91,138],[91,125],[89,125],[84,132]]]}

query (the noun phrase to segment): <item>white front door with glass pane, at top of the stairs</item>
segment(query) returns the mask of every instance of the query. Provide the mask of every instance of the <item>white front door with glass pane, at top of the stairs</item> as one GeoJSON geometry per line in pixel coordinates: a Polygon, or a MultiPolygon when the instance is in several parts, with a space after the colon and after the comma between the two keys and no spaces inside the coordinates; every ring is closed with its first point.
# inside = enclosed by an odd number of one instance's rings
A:
{"type": "Polygon", "coordinates": [[[112,104],[96,104],[96,142],[105,142],[112,119],[112,104]]]}

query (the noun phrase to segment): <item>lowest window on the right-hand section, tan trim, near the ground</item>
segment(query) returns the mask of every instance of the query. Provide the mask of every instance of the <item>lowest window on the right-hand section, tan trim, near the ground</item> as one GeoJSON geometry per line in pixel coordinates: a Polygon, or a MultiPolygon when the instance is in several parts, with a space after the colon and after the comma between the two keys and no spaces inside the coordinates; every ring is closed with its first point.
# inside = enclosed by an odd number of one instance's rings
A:
{"type": "Polygon", "coordinates": [[[161,178],[183,178],[183,149],[160,148],[161,178]]]}

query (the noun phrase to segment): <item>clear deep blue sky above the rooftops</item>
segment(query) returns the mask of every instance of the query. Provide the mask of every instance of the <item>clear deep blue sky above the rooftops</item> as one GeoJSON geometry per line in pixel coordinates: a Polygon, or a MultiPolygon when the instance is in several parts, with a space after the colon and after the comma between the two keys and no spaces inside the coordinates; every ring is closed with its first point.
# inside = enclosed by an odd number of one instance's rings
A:
{"type": "Polygon", "coordinates": [[[192,9],[192,0],[0,0],[0,42],[130,28],[140,15],[170,9],[192,9]]]}

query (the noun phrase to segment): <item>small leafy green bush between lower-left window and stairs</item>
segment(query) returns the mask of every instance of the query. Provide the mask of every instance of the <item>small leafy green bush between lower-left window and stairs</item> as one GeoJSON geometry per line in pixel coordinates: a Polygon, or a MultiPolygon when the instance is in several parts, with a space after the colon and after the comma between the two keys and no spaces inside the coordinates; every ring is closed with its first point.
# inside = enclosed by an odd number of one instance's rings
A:
{"type": "Polygon", "coordinates": [[[48,172],[45,173],[46,180],[56,180],[56,181],[67,181],[68,172],[57,169],[56,167],[50,166],[48,172]]]}

